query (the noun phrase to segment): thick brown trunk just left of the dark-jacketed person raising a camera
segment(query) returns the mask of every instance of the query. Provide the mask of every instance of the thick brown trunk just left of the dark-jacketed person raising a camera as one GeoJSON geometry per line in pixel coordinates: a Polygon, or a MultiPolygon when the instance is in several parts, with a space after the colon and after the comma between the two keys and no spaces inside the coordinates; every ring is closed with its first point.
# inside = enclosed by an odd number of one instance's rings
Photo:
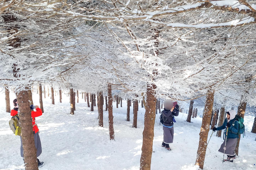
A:
{"type": "Polygon", "coordinates": [[[151,157],[153,151],[153,139],[154,139],[154,125],[155,125],[155,110],[156,110],[156,85],[147,85],[147,99],[145,106],[145,118],[144,118],[144,130],[143,130],[143,142],[141,148],[140,157],[140,170],[150,170],[151,157]]]}

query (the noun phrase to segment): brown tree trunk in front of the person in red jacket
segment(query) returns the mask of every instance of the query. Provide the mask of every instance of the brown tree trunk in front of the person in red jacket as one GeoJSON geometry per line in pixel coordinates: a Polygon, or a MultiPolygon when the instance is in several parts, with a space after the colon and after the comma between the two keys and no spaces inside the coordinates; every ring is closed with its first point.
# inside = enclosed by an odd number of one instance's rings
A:
{"type": "Polygon", "coordinates": [[[20,111],[19,118],[21,123],[21,139],[23,145],[25,169],[38,170],[28,91],[20,91],[16,94],[16,96],[20,111]]]}

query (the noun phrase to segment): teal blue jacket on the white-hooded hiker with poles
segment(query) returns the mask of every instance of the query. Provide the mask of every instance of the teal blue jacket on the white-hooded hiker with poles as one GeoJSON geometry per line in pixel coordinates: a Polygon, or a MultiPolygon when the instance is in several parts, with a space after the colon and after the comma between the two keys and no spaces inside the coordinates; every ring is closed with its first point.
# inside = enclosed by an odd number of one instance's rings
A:
{"type": "MultiPolygon", "coordinates": [[[[226,136],[226,132],[227,132],[227,123],[228,123],[228,120],[226,118],[223,125],[217,128],[217,130],[225,129],[225,136],[226,136]]],[[[230,120],[229,124],[231,125],[231,127],[228,128],[228,137],[227,138],[238,138],[237,132],[238,132],[238,128],[239,128],[239,123],[238,123],[238,121],[236,121],[236,118],[230,120]],[[234,126],[233,126],[233,122],[234,122],[234,126]]]]}

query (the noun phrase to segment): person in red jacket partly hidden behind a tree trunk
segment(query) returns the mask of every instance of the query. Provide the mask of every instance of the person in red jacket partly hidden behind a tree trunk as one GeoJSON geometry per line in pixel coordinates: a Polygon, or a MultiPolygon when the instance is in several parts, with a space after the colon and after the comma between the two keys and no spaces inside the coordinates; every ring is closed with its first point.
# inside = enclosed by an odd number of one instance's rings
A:
{"type": "MultiPolygon", "coordinates": [[[[13,105],[14,105],[14,108],[13,110],[11,110],[11,116],[15,116],[18,114],[18,102],[17,102],[17,99],[14,99],[13,100],[13,105]]],[[[32,126],[33,126],[33,132],[34,132],[34,140],[35,140],[35,147],[36,147],[36,157],[40,156],[40,154],[42,153],[42,146],[41,146],[41,140],[40,140],[40,137],[39,137],[39,129],[36,125],[36,122],[35,122],[35,117],[39,117],[42,115],[42,110],[38,107],[38,106],[35,106],[35,109],[36,111],[34,111],[33,108],[31,108],[31,118],[32,118],[32,126]]],[[[20,141],[21,141],[21,146],[20,146],[20,155],[21,157],[23,158],[23,146],[22,146],[22,138],[20,136],[20,141]]],[[[43,166],[43,163],[44,162],[40,162],[39,159],[37,159],[38,161],[38,167],[41,167],[43,166]]]]}

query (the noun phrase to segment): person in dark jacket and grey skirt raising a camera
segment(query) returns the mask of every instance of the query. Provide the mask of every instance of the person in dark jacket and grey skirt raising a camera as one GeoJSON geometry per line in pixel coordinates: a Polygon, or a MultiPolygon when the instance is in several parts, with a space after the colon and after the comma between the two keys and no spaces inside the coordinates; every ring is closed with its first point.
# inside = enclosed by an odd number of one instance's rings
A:
{"type": "Polygon", "coordinates": [[[167,150],[171,150],[169,144],[173,143],[174,136],[174,127],[173,122],[176,122],[174,116],[179,116],[179,105],[176,104],[173,106],[173,102],[167,99],[164,102],[164,110],[162,111],[163,116],[163,131],[164,131],[164,140],[162,147],[165,147],[167,150]]]}

